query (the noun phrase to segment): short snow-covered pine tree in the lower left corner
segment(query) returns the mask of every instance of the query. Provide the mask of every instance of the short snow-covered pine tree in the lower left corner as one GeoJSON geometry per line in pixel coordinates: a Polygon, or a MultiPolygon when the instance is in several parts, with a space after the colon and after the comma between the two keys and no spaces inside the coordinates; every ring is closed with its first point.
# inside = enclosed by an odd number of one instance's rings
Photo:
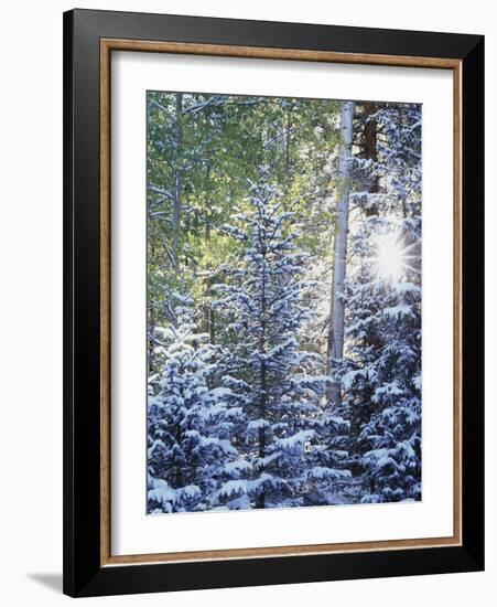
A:
{"type": "Polygon", "coordinates": [[[241,412],[227,406],[228,388],[212,385],[219,349],[196,333],[187,306],[176,318],[158,347],[162,374],[149,384],[149,513],[212,508],[226,478],[222,465],[238,458],[233,433],[241,412]]]}

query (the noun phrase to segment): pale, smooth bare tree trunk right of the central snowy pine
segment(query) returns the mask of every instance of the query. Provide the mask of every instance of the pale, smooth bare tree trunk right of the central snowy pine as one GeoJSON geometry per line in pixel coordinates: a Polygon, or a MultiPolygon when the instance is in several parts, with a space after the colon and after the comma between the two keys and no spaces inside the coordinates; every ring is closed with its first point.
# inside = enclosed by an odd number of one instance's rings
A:
{"type": "MultiPolygon", "coordinates": [[[[344,286],[347,257],[348,199],[350,195],[350,158],[354,102],[344,102],[342,106],[341,131],[342,146],[338,158],[338,203],[336,207],[336,232],[334,243],[333,284],[328,328],[327,373],[344,356],[344,286]]],[[[328,402],[335,406],[342,404],[342,392],[338,383],[333,383],[328,391],[328,402]]]]}

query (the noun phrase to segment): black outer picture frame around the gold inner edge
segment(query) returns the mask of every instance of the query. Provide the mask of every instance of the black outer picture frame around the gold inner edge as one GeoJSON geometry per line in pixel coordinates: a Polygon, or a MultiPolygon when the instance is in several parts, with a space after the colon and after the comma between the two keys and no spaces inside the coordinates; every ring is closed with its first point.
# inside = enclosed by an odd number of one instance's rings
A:
{"type": "MultiPolygon", "coordinates": [[[[366,62],[367,63],[367,62],[366,62]]],[[[484,38],[73,10],[64,13],[64,593],[97,596],[484,568],[484,38]],[[462,544],[102,566],[100,40],[458,60],[462,66],[462,544]]]]}

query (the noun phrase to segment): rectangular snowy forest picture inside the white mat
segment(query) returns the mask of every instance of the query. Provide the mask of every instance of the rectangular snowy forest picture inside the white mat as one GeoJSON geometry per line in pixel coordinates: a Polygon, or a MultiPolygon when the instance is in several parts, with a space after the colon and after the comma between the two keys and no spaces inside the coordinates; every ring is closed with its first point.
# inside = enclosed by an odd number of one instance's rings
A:
{"type": "Polygon", "coordinates": [[[421,500],[421,106],[147,121],[147,512],[421,500]]]}

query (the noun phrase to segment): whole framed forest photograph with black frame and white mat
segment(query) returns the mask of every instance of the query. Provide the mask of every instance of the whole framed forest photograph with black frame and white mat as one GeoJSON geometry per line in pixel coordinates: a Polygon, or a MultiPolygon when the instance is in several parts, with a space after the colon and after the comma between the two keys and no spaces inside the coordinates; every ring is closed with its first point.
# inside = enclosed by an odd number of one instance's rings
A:
{"type": "Polygon", "coordinates": [[[484,567],[484,39],[64,15],[64,592],[484,567]]]}

